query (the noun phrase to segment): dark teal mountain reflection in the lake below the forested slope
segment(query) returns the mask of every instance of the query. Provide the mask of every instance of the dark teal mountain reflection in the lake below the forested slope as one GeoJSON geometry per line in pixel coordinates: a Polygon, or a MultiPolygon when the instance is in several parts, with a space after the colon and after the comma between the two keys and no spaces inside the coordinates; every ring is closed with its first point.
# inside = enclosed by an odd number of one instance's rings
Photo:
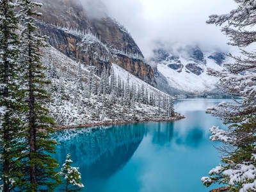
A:
{"type": "Polygon", "coordinates": [[[106,129],[76,129],[57,132],[60,143],[56,159],[63,163],[70,152],[83,179],[108,179],[131,159],[145,134],[141,125],[114,125],[106,129]]]}

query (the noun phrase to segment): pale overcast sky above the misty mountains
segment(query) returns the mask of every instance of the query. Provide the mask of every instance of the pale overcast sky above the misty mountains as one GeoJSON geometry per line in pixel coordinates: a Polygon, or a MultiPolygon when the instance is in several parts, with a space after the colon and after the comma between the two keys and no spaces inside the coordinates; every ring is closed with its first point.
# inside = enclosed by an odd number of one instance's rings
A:
{"type": "Polygon", "coordinates": [[[168,44],[195,43],[204,50],[229,49],[228,38],[220,27],[207,25],[205,20],[214,13],[229,13],[237,7],[234,0],[100,1],[106,5],[109,16],[128,29],[146,57],[150,56],[154,40],[168,44]]]}

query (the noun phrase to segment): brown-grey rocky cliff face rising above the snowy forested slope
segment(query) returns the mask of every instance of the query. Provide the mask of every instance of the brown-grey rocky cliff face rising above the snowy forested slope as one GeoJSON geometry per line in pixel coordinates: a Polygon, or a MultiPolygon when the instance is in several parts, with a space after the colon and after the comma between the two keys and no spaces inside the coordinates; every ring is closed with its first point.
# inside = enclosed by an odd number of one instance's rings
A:
{"type": "Polygon", "coordinates": [[[154,72],[131,35],[118,22],[108,17],[104,5],[100,17],[90,17],[76,0],[37,0],[44,6],[40,32],[49,36],[49,44],[72,60],[103,67],[116,63],[135,76],[152,83],[154,72]]]}

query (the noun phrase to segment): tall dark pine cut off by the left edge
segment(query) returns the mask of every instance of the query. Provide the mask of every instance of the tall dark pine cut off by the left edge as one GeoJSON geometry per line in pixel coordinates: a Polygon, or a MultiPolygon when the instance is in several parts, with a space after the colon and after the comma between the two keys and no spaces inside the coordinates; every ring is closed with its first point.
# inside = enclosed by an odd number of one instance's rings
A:
{"type": "Polygon", "coordinates": [[[11,191],[22,184],[20,161],[26,131],[22,115],[24,93],[20,90],[20,36],[16,4],[0,0],[0,175],[2,191],[11,191]]]}

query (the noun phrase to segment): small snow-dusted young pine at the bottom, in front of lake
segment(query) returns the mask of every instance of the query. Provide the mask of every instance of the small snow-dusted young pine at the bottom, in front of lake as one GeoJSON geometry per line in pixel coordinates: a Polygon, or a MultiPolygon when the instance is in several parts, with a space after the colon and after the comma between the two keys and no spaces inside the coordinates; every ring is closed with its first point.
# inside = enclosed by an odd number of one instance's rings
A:
{"type": "Polygon", "coordinates": [[[80,182],[81,173],[79,173],[79,168],[71,166],[72,163],[70,154],[67,154],[66,161],[59,172],[59,175],[65,179],[65,188],[61,189],[61,191],[80,191],[84,188],[84,185],[80,182]]]}

